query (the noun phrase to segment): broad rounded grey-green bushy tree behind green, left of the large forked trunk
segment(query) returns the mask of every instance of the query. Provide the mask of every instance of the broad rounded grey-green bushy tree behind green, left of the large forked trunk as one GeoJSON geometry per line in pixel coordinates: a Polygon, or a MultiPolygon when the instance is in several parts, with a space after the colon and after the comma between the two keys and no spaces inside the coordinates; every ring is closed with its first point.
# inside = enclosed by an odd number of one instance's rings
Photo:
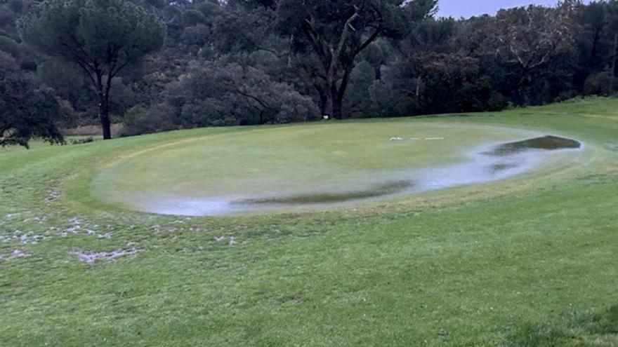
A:
{"type": "Polygon", "coordinates": [[[179,110],[183,127],[221,125],[226,118],[249,125],[320,116],[310,97],[303,97],[287,83],[272,81],[259,69],[239,64],[202,64],[172,84],[164,96],[179,110]]]}

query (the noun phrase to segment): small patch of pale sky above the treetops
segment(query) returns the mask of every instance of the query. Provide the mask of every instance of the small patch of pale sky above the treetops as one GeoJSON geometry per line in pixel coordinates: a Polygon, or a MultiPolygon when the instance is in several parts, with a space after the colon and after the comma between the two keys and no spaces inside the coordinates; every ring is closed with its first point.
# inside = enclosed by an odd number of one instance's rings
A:
{"type": "Polygon", "coordinates": [[[499,8],[524,6],[528,4],[555,5],[557,0],[440,0],[438,15],[455,18],[471,17],[483,13],[495,14],[499,8]]]}

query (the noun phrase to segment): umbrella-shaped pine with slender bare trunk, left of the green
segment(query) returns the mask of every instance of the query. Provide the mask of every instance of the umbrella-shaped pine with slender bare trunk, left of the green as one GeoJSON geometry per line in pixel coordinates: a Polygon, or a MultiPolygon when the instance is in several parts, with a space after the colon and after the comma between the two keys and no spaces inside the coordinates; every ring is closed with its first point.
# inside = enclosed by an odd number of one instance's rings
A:
{"type": "Polygon", "coordinates": [[[43,53],[79,65],[93,84],[103,138],[112,138],[110,89],[124,68],[159,50],[165,26],[125,0],[47,0],[18,22],[22,38],[43,53]]]}

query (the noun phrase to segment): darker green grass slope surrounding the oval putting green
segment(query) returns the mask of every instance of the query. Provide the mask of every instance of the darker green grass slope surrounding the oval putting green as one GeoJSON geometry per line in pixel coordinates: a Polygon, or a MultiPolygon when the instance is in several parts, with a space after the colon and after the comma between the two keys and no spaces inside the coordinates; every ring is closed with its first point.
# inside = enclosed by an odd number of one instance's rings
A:
{"type": "Polygon", "coordinates": [[[90,177],[252,128],[0,152],[0,254],[31,254],[0,260],[0,345],[616,346],[618,100],[425,121],[557,132],[589,158],[355,210],[180,219],[103,212],[90,177]]]}

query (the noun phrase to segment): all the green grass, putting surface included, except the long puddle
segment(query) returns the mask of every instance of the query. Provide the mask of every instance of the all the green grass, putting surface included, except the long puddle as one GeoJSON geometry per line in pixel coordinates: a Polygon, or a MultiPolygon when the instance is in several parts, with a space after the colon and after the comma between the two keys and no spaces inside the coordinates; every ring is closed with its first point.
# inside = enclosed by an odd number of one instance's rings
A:
{"type": "Polygon", "coordinates": [[[0,193],[0,346],[618,346],[615,99],[0,149],[0,193]],[[372,177],[530,135],[585,147],[317,209],[136,211],[157,193],[371,196],[372,177]]]}

